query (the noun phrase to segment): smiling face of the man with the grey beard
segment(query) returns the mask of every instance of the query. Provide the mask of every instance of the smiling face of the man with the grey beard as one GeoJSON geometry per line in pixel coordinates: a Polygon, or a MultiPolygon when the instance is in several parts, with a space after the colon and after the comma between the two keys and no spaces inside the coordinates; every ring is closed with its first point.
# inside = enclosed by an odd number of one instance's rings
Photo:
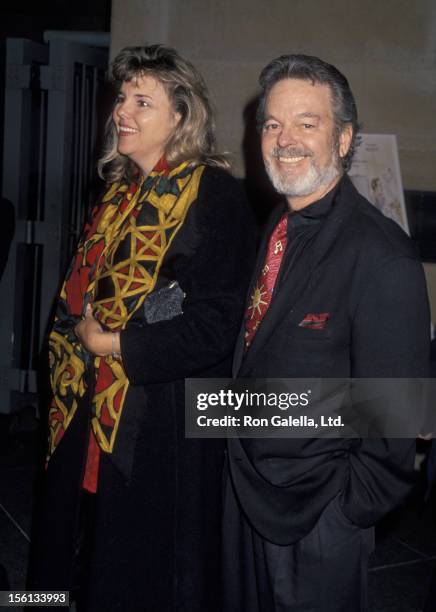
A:
{"type": "Polygon", "coordinates": [[[318,200],[337,183],[339,157],[347,153],[351,135],[348,127],[336,138],[327,85],[300,79],[273,85],[265,104],[262,154],[271,182],[293,209],[318,200]]]}

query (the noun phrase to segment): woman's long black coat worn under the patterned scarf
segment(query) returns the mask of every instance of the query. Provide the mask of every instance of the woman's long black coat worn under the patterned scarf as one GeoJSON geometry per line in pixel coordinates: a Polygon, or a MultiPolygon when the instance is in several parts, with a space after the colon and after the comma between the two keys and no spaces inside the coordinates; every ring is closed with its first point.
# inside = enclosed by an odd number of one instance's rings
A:
{"type": "MultiPolygon", "coordinates": [[[[178,281],[183,314],[121,332],[130,381],[113,456],[102,454],[86,531],[87,611],[220,609],[223,440],[186,439],[184,378],[228,377],[254,258],[242,187],[206,167],[157,288],[178,281]]],[[[86,399],[86,398],[85,398],[86,399]]],[[[35,533],[32,586],[70,589],[89,404],[50,460],[35,533]],[[50,546],[47,546],[50,543],[50,546]]]]}

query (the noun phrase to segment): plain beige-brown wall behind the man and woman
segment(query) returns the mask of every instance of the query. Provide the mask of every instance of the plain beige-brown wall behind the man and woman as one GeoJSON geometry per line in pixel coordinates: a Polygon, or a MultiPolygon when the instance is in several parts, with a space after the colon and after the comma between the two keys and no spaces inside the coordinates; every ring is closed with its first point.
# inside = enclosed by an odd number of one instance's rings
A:
{"type": "MultiPolygon", "coordinates": [[[[300,52],[347,75],[366,132],[397,134],[404,187],[436,190],[433,0],[112,0],[112,54],[144,42],[174,46],[202,72],[237,174],[260,70],[300,52]]],[[[426,274],[436,321],[436,265],[426,274]]]]}

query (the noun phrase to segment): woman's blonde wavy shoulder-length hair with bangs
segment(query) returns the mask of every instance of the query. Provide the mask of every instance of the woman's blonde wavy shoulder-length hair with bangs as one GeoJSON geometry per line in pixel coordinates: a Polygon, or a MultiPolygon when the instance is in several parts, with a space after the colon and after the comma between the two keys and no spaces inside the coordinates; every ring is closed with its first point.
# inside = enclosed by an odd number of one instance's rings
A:
{"type": "MultiPolygon", "coordinates": [[[[188,161],[228,169],[224,155],[215,154],[215,124],[203,78],[177,51],[163,45],[125,47],[112,62],[109,79],[119,90],[124,82],[151,75],[165,88],[173,110],[180,113],[165,156],[170,168],[188,161]]],[[[118,153],[118,133],[109,116],[98,173],[107,182],[130,179],[137,170],[127,156],[118,153]]]]}

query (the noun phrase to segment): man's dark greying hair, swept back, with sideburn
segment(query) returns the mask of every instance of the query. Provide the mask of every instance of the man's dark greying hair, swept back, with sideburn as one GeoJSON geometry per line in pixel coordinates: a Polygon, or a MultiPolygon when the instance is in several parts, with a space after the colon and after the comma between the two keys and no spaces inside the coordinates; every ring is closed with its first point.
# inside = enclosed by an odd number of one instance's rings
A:
{"type": "Polygon", "coordinates": [[[259,77],[262,88],[257,109],[259,128],[264,121],[266,98],[272,86],[283,79],[300,79],[310,81],[312,84],[329,86],[337,138],[339,138],[339,134],[345,125],[350,124],[353,129],[348,153],[341,158],[344,172],[349,170],[360,125],[357,118],[356,102],[347,79],[337,68],[311,55],[282,55],[272,60],[265,66],[259,77]]]}

